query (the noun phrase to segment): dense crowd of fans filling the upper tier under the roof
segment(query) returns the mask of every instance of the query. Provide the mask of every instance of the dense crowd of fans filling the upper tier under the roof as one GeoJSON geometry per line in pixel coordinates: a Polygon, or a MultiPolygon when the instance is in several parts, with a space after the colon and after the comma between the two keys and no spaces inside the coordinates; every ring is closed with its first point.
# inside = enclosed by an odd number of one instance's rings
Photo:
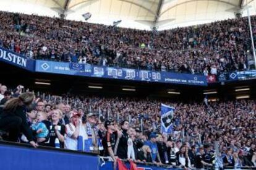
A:
{"type": "Polygon", "coordinates": [[[247,18],[160,32],[10,12],[0,21],[0,46],[34,59],[205,75],[254,63],[247,18]]]}

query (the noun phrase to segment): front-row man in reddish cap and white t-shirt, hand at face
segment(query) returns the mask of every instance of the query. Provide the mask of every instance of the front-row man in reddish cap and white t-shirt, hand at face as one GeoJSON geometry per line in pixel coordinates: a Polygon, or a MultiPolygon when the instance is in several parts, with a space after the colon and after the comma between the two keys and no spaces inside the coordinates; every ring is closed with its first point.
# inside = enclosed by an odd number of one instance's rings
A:
{"type": "Polygon", "coordinates": [[[66,125],[66,137],[64,141],[64,148],[68,150],[77,150],[77,138],[79,136],[79,125],[81,115],[73,112],[70,116],[70,123],[66,125]]]}

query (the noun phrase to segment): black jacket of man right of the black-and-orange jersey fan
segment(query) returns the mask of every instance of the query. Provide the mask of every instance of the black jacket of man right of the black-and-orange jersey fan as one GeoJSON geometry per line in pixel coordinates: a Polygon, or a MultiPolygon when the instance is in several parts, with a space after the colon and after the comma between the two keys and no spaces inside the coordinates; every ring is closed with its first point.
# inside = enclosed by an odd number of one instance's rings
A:
{"type": "Polygon", "coordinates": [[[127,130],[122,129],[122,137],[119,139],[117,147],[117,156],[121,159],[127,159],[128,138],[127,130]]]}

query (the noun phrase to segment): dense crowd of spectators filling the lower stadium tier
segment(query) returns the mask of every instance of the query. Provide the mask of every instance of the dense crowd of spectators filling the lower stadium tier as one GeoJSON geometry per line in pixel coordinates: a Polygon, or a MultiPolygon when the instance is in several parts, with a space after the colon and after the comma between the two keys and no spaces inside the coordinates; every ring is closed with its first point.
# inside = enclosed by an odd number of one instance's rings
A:
{"type": "Polygon", "coordinates": [[[0,137],[33,147],[98,152],[184,169],[256,166],[255,100],[182,103],[139,98],[54,96],[0,84],[0,137]],[[175,108],[161,133],[160,104],[175,108]],[[82,142],[83,143],[83,142],[82,142]],[[83,146],[83,145],[82,145],[83,146]]]}

